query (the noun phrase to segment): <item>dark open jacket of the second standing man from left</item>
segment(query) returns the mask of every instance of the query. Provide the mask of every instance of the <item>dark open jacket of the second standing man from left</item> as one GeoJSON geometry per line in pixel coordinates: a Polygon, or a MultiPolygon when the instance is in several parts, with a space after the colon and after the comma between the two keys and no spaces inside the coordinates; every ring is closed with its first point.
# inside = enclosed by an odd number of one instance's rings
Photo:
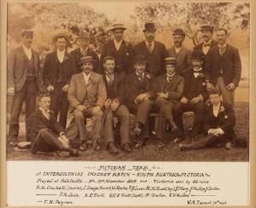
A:
{"type": "MultiPolygon", "coordinates": [[[[57,83],[57,70],[60,62],[57,57],[57,52],[50,53],[46,55],[44,61],[44,84],[46,87],[49,85],[55,85],[57,83]]],[[[75,72],[76,65],[73,55],[67,53],[64,56],[64,61],[61,63],[62,70],[61,74],[61,83],[69,84],[70,78],[75,72]]]]}

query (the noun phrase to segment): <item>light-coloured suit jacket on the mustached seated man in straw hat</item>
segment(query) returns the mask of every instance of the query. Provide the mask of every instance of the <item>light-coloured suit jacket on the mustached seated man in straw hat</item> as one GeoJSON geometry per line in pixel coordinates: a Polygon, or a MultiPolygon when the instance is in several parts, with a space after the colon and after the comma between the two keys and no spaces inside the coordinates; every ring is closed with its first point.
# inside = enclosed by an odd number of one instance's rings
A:
{"type": "Polygon", "coordinates": [[[85,84],[83,72],[72,76],[67,93],[67,100],[71,106],[81,104],[85,95],[87,95],[90,107],[103,107],[107,92],[101,74],[91,72],[88,84],[85,84]]]}

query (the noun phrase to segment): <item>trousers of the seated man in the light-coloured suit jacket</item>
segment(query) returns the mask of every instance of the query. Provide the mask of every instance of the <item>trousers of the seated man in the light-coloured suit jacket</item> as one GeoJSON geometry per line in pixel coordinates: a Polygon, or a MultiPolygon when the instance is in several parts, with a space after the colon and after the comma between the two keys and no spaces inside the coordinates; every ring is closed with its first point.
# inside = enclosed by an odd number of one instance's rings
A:
{"type": "Polygon", "coordinates": [[[79,138],[81,142],[87,141],[87,130],[86,130],[86,118],[91,118],[92,122],[94,124],[94,128],[92,130],[92,138],[96,139],[96,136],[98,138],[101,136],[101,130],[102,130],[102,118],[103,113],[102,111],[98,112],[96,115],[92,115],[91,113],[92,107],[87,108],[85,111],[79,111],[78,109],[75,109],[73,111],[73,121],[72,124],[76,124],[76,126],[79,129],[79,138]]]}

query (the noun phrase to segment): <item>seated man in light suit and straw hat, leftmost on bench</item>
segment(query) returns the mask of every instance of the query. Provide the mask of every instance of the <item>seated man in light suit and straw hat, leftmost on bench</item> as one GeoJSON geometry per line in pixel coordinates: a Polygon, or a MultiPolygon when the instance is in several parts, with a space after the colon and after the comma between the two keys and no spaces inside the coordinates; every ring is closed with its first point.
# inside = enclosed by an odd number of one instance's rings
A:
{"type": "Polygon", "coordinates": [[[92,136],[96,143],[96,150],[100,150],[98,141],[102,130],[102,107],[107,99],[106,87],[102,79],[102,75],[93,71],[93,58],[84,56],[79,62],[79,66],[83,70],[78,74],[74,74],[69,85],[67,99],[74,108],[73,122],[79,129],[79,137],[82,145],[81,151],[85,151],[88,147],[86,118],[92,118],[94,128],[92,136]]]}

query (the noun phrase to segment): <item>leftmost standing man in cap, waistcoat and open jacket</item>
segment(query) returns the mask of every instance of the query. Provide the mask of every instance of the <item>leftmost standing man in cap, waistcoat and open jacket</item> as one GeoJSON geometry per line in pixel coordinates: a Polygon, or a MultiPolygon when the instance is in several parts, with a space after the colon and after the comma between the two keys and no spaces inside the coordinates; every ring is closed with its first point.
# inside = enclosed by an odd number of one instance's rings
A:
{"type": "MultiPolygon", "coordinates": [[[[9,119],[9,141],[12,146],[17,145],[19,136],[19,117],[23,101],[26,101],[26,121],[35,111],[38,91],[44,91],[44,82],[39,67],[39,55],[32,49],[33,32],[24,30],[21,32],[22,44],[12,51],[8,58],[8,92],[15,92],[11,117],[9,119]]],[[[26,140],[29,126],[26,122],[26,140]]]]}

